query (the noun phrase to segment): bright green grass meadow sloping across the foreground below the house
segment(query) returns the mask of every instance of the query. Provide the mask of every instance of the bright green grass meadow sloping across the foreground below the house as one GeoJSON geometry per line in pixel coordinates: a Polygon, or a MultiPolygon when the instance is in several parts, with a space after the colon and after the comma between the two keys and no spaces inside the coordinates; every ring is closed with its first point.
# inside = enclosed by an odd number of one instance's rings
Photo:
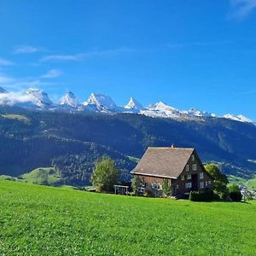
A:
{"type": "Polygon", "coordinates": [[[0,181],[0,255],[253,255],[256,204],[0,181]]]}

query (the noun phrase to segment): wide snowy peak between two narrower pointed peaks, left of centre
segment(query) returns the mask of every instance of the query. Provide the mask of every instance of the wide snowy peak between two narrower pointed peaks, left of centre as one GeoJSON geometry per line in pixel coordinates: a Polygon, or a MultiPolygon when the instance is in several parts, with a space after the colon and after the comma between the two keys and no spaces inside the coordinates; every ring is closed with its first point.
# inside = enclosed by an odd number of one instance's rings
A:
{"type": "Polygon", "coordinates": [[[88,100],[83,102],[83,105],[85,109],[96,112],[114,113],[118,111],[112,98],[103,94],[92,93],[88,100]]]}

